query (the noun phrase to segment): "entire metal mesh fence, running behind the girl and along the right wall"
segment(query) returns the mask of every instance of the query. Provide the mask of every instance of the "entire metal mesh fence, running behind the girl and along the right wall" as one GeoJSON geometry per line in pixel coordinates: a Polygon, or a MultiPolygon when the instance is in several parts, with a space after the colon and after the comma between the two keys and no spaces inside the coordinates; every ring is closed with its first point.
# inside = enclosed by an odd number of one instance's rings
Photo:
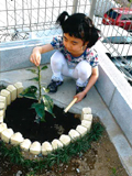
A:
{"type": "MultiPolygon", "coordinates": [[[[61,30],[56,28],[55,21],[61,12],[67,11],[69,14],[82,12],[89,15],[95,25],[101,30],[101,42],[105,45],[106,54],[132,82],[131,32],[124,33],[113,25],[111,30],[111,25],[102,24],[105,12],[122,6],[130,7],[129,3],[118,3],[113,0],[1,0],[0,43],[57,35],[61,30]],[[108,36],[112,36],[113,40],[113,33],[118,37],[129,36],[130,42],[114,44],[108,38],[108,36]]],[[[132,23],[130,12],[128,18],[132,23]]]]}

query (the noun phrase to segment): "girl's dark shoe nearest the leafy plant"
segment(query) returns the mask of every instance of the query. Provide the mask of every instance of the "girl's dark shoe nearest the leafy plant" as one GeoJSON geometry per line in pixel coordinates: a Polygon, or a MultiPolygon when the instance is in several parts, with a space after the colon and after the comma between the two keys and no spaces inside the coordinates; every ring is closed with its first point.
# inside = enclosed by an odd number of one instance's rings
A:
{"type": "Polygon", "coordinates": [[[50,89],[50,92],[56,92],[57,91],[57,87],[63,85],[63,81],[58,80],[52,80],[51,84],[47,86],[47,88],[50,89]]]}

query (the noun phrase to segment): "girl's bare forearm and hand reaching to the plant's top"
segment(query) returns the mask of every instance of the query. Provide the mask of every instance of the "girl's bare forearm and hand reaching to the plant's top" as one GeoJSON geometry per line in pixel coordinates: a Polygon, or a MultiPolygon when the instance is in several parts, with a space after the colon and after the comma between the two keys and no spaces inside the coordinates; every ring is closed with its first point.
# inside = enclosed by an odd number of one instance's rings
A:
{"type": "Polygon", "coordinates": [[[43,46],[37,46],[33,48],[33,52],[30,56],[31,63],[35,64],[38,66],[41,64],[41,54],[53,51],[54,47],[51,44],[46,44],[43,46]]]}

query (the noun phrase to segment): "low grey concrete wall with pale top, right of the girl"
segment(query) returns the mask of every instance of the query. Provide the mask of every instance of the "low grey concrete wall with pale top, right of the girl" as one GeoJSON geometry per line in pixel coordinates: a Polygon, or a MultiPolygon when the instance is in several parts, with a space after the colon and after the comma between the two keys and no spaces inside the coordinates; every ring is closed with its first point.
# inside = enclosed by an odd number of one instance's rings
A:
{"type": "Polygon", "coordinates": [[[96,48],[100,56],[96,88],[132,145],[132,87],[103,53],[100,42],[96,48]]]}

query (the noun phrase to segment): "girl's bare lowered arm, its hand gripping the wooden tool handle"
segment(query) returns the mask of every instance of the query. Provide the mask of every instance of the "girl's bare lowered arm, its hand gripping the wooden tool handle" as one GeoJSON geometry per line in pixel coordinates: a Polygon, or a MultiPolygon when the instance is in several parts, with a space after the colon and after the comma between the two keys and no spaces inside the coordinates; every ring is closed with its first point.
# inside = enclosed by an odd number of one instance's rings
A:
{"type": "Polygon", "coordinates": [[[92,68],[92,74],[89,78],[88,85],[86,86],[85,90],[77,94],[74,98],[77,98],[76,102],[79,102],[82,100],[82,98],[87,95],[87,92],[90,90],[90,88],[96,84],[97,79],[99,77],[99,70],[98,66],[92,68]]]}

